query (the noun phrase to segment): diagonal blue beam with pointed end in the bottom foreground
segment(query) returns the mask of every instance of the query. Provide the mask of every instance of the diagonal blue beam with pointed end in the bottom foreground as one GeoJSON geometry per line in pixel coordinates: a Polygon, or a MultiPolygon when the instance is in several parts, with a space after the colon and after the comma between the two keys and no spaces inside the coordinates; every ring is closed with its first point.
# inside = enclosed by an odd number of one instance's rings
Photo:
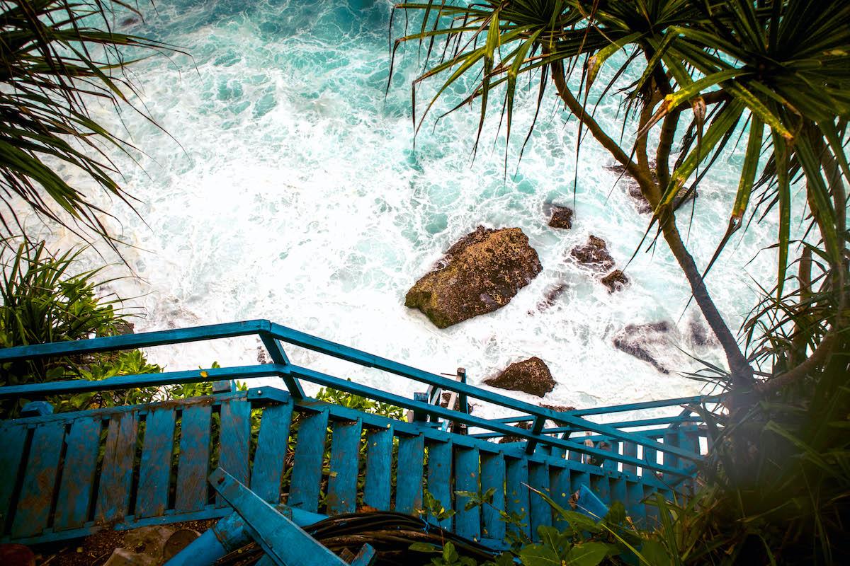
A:
{"type": "Polygon", "coordinates": [[[345,566],[341,558],[221,468],[210,475],[210,483],[245,520],[246,530],[278,566],[345,566]]]}

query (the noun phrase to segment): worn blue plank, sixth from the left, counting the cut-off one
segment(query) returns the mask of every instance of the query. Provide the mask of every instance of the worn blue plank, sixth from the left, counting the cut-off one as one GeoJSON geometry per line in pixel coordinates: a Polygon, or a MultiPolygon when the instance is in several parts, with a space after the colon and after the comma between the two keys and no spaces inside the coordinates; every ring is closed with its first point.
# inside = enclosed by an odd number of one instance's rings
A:
{"type": "Polygon", "coordinates": [[[180,453],[174,509],[200,511],[207,505],[207,472],[210,461],[212,407],[190,406],[180,419],[180,453]]]}

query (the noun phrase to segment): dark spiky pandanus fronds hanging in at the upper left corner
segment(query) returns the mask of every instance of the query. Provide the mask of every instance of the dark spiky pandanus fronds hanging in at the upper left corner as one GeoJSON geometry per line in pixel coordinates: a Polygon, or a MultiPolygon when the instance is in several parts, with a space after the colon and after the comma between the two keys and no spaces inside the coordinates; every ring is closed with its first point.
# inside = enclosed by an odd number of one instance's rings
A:
{"type": "Polygon", "coordinates": [[[20,214],[42,219],[111,245],[92,186],[132,207],[119,181],[115,152],[132,155],[127,137],[94,115],[94,104],[144,109],[125,72],[127,51],[167,46],[113,29],[139,21],[121,0],[0,0],[0,232],[23,232],[20,214]],[[60,172],[61,171],[61,172],[60,172]],[[71,180],[68,172],[82,173],[71,180]]]}

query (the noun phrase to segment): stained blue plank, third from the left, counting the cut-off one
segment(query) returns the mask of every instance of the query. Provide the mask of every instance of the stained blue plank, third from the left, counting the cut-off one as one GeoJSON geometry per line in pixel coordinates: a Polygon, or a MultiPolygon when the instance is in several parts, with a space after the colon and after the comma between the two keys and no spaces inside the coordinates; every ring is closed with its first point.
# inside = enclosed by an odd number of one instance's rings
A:
{"type": "Polygon", "coordinates": [[[102,421],[76,418],[65,442],[65,465],[56,499],[54,530],[77,529],[88,519],[88,507],[94,496],[94,473],[98,464],[102,421]]]}

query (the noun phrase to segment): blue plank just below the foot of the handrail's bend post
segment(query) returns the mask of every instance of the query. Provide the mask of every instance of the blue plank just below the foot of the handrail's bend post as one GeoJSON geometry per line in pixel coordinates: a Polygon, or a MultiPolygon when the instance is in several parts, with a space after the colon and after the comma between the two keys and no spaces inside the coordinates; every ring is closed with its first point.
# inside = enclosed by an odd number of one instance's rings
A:
{"type": "Polygon", "coordinates": [[[283,478],[289,427],[292,423],[292,402],[263,408],[254,467],[251,471],[251,490],[264,501],[280,501],[280,482],[283,478]]]}

